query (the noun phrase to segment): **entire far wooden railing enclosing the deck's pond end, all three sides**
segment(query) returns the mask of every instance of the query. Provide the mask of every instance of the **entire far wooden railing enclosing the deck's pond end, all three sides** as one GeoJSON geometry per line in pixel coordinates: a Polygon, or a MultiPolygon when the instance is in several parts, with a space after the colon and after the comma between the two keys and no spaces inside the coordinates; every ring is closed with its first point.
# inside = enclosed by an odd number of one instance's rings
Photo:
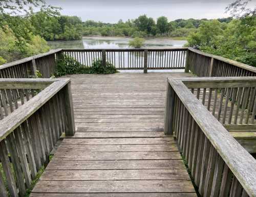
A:
{"type": "Polygon", "coordinates": [[[0,65],[0,78],[31,78],[38,71],[50,78],[60,54],[92,67],[95,60],[112,63],[118,70],[185,69],[199,77],[256,76],[256,68],[193,48],[172,49],[57,49],[0,65]]]}

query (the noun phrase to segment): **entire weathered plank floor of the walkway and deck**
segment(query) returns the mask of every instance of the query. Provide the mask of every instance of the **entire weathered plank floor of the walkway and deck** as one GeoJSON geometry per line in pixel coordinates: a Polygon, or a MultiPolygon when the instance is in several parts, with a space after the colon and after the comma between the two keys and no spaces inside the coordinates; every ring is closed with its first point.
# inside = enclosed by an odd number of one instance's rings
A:
{"type": "Polygon", "coordinates": [[[174,137],[163,133],[166,78],[189,76],[66,76],[77,130],[62,140],[31,196],[197,196],[174,137]]]}

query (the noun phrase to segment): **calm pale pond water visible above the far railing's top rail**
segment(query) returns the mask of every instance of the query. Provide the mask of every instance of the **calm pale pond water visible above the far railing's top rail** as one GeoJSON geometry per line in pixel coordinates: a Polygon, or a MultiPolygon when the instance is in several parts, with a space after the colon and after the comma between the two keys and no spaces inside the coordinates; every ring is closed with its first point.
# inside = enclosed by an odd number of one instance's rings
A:
{"type": "MultiPolygon", "coordinates": [[[[83,37],[73,41],[48,41],[52,49],[127,49],[129,37],[83,37]]],[[[183,47],[186,40],[174,40],[172,38],[150,38],[145,40],[144,48],[176,48],[183,47]]]]}

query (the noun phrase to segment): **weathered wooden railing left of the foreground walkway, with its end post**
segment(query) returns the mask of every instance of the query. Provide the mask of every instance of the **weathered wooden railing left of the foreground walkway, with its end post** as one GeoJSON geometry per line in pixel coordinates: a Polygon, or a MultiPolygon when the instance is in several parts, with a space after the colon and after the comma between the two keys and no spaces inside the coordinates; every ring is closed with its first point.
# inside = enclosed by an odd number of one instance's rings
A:
{"type": "Polygon", "coordinates": [[[0,120],[0,196],[24,196],[62,133],[74,135],[70,79],[1,79],[0,87],[1,98],[15,95],[2,111],[22,104],[0,120]]]}

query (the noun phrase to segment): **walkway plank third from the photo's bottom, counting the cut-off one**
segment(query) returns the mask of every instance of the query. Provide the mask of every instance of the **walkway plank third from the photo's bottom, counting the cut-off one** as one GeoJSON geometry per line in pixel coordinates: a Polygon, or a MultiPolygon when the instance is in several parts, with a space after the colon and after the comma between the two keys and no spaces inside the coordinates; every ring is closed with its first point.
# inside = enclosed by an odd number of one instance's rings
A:
{"type": "Polygon", "coordinates": [[[46,170],[41,181],[190,180],[186,169],[46,170]]]}

